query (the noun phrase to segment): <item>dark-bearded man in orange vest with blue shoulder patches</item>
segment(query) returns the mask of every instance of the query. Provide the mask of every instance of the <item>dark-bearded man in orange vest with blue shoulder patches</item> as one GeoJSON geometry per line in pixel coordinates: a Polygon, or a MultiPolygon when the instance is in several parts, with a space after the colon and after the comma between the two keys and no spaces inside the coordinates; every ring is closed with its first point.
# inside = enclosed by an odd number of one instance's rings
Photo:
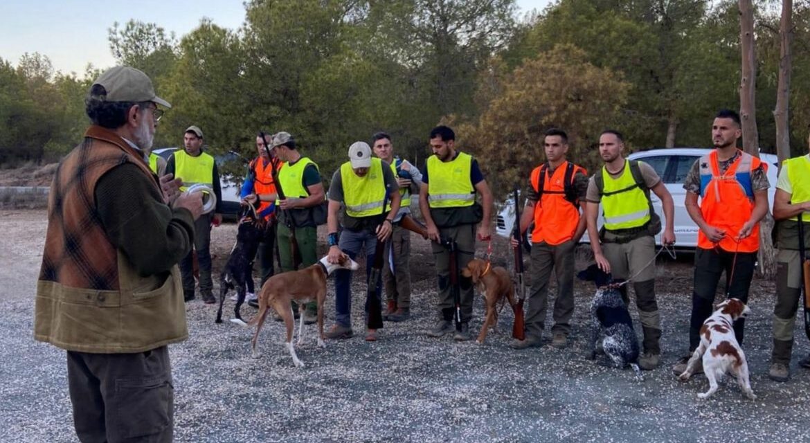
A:
{"type": "MultiPolygon", "coordinates": [[[[767,165],[737,149],[743,134],[740,115],[721,110],[712,124],[714,151],[692,165],[684,180],[684,205],[697,228],[692,315],[689,321],[689,355],[672,368],[683,373],[689,357],[701,343],[703,322],[714,310],[720,275],[726,273],[726,296],[748,303],[748,288],[759,250],[759,222],[768,213],[767,165]],[[700,203],[698,204],[698,198],[700,203]]],[[[745,319],[734,322],[737,342],[743,343],[745,319]]],[[[702,373],[697,360],[695,373],[702,373]]]]}

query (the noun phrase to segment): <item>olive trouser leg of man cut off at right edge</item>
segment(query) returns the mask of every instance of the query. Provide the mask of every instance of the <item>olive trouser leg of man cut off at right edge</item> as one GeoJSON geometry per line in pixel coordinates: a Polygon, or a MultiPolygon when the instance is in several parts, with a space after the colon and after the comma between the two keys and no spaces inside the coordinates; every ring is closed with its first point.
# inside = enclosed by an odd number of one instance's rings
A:
{"type": "Polygon", "coordinates": [[[799,251],[779,249],[776,256],[776,306],[774,306],[774,351],[772,363],[791,363],[793,330],[801,297],[799,251]]]}

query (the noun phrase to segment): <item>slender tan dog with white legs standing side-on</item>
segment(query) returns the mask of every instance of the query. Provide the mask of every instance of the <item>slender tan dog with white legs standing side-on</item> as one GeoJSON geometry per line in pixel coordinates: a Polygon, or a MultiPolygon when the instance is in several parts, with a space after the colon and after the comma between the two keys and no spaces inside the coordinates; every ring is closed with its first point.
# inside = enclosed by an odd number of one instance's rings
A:
{"type": "Polygon", "coordinates": [[[357,270],[360,266],[349,258],[346,254],[340,256],[339,263],[330,263],[326,257],[312,266],[306,267],[302,270],[291,270],[281,274],[273,275],[262,286],[262,290],[258,294],[258,313],[253,317],[248,326],[258,323],[256,333],[251,341],[253,356],[258,357],[257,342],[258,333],[262,330],[262,325],[269,312],[267,309],[272,308],[279,316],[283,318],[284,325],[287,326],[287,341],[284,346],[287,347],[292,356],[292,363],[298,367],[303,367],[304,363],[298,360],[296,350],[292,347],[292,333],[295,330],[295,317],[292,313],[292,305],[290,302],[296,300],[298,309],[301,313],[301,321],[298,327],[298,344],[301,345],[304,341],[304,309],[305,304],[309,301],[318,302],[318,347],[326,347],[323,342],[323,301],[326,300],[326,277],[333,271],[339,269],[357,270]]]}

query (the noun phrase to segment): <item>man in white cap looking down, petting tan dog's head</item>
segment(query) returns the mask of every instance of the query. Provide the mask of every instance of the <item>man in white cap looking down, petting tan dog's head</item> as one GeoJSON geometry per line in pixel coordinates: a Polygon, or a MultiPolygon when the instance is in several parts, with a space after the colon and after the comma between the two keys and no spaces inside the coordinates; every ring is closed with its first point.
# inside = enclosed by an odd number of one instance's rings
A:
{"type": "MultiPolygon", "coordinates": [[[[341,253],[352,259],[365,246],[366,275],[374,262],[377,241],[386,241],[399,211],[399,185],[390,165],[372,158],[369,143],[355,142],[349,147],[349,161],[332,176],[329,186],[329,212],[326,226],[329,235],[329,261],[336,263],[341,253]],[[343,232],[338,238],[338,219],[343,205],[343,232]],[[383,207],[385,205],[385,207],[383,207]]],[[[328,339],[352,337],[352,271],[335,271],[335,326],[326,333],[328,339]]],[[[380,303],[381,287],[377,283],[376,303],[380,303]]],[[[369,305],[366,305],[368,315],[369,305]]],[[[367,330],[365,339],[377,340],[377,330],[367,330]]]]}

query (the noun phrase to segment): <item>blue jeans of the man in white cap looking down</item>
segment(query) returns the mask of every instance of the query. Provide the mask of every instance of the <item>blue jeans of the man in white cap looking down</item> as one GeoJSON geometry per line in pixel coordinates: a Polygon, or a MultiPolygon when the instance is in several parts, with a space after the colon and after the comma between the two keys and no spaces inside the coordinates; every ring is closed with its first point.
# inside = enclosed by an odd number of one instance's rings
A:
{"type": "MultiPolygon", "coordinates": [[[[340,233],[338,247],[354,260],[365,246],[365,278],[368,281],[371,267],[374,262],[374,249],[377,247],[377,236],[368,231],[349,231],[343,229],[340,233]]],[[[375,303],[381,303],[382,279],[377,279],[377,298],[375,303]]],[[[365,306],[366,317],[369,315],[368,301],[365,306]]],[[[347,269],[335,270],[335,322],[340,326],[352,327],[352,271],[347,269]]]]}

